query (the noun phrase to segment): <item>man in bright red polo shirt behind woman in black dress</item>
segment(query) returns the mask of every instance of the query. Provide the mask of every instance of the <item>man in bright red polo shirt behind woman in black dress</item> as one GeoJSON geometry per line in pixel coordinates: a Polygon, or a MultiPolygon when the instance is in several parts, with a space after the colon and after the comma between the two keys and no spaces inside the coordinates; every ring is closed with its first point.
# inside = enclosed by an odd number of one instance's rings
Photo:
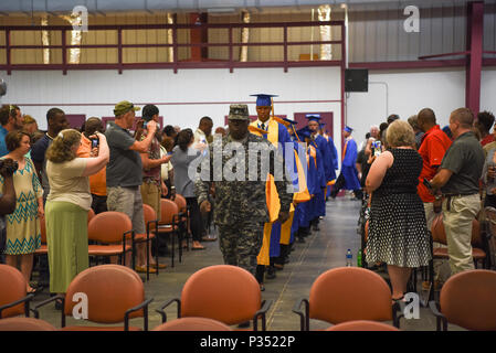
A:
{"type": "MultiPolygon", "coordinates": [[[[419,176],[419,186],[418,192],[420,199],[424,203],[425,210],[425,220],[428,221],[428,229],[431,231],[432,222],[435,217],[434,204],[439,203],[439,211],[441,211],[441,200],[436,200],[429,191],[429,189],[424,185],[423,180],[426,178],[428,180],[432,180],[435,173],[437,172],[437,168],[441,165],[441,161],[443,160],[444,153],[450,148],[452,140],[444,133],[443,130],[440,129],[440,126],[436,125],[434,111],[430,108],[424,108],[420,110],[418,114],[418,126],[419,128],[425,132],[422,138],[422,143],[419,148],[419,153],[422,157],[423,165],[422,171],[419,176]]],[[[436,207],[437,208],[437,207],[436,207]]],[[[434,243],[434,247],[440,246],[440,244],[434,243]]],[[[434,260],[434,288],[439,286],[440,274],[441,274],[441,265],[440,260],[434,260]]],[[[448,272],[447,272],[448,274],[448,272]]],[[[424,289],[429,288],[429,282],[422,284],[424,289]]]]}

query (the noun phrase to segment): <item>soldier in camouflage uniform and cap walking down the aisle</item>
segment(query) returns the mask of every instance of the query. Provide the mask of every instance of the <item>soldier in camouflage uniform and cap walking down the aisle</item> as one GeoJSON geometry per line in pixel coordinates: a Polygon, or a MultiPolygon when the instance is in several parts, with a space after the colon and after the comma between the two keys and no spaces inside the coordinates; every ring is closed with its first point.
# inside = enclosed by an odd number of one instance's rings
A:
{"type": "MultiPolygon", "coordinates": [[[[200,208],[208,211],[211,207],[208,201],[208,192],[210,184],[214,183],[214,222],[219,228],[219,243],[224,263],[240,266],[255,275],[256,256],[262,247],[264,223],[268,222],[270,218],[265,196],[266,175],[261,173],[261,156],[264,156],[264,153],[270,156],[272,174],[274,173],[274,159],[281,159],[277,162],[281,163],[279,165],[284,164],[281,154],[276,153],[272,143],[249,132],[249,124],[247,106],[231,105],[229,135],[223,138],[215,138],[213,143],[210,145],[210,160],[208,162],[210,163],[210,170],[207,171],[207,175],[205,171],[202,170],[201,178],[197,179],[196,193],[200,208]],[[229,181],[225,178],[226,175],[222,174],[222,178],[220,178],[219,174],[224,171],[226,162],[232,163],[233,159],[238,158],[236,167],[243,164],[243,162],[240,162],[243,156],[236,153],[236,157],[233,157],[233,153],[223,152],[222,165],[217,165],[215,161],[215,152],[224,151],[228,143],[235,142],[241,143],[245,151],[244,181],[240,181],[241,178],[229,181]],[[262,153],[256,154],[257,174],[255,181],[253,181],[253,174],[249,175],[249,145],[251,143],[257,143],[257,148],[263,150],[262,153]]],[[[289,216],[289,205],[293,201],[293,193],[288,192],[292,190],[292,183],[283,179],[283,181],[276,181],[275,184],[281,200],[279,221],[284,223],[289,216]]]]}

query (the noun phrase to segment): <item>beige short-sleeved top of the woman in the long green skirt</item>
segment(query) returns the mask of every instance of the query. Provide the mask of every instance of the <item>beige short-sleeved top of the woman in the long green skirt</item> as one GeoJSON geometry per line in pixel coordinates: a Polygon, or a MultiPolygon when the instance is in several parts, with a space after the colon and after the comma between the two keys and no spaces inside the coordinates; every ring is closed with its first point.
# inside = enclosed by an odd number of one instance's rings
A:
{"type": "Polygon", "coordinates": [[[46,161],[46,174],[50,182],[50,194],[46,201],[71,202],[84,210],[89,210],[92,205],[89,180],[83,176],[86,163],[86,158],[75,158],[62,163],[46,161]]]}

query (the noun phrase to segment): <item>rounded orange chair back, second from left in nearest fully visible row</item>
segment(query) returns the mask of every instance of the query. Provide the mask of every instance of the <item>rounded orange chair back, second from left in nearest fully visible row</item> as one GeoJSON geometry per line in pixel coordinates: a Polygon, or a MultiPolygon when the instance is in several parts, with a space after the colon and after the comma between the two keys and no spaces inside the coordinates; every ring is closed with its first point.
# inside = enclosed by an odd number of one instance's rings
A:
{"type": "MultiPolygon", "coordinates": [[[[88,320],[98,323],[123,322],[128,309],[145,301],[141,278],[133,269],[120,265],[101,265],[80,272],[68,285],[65,315],[72,315],[74,306],[81,301],[73,297],[80,292],[87,296],[88,320]]],[[[143,314],[139,310],[129,318],[143,314]]]]}

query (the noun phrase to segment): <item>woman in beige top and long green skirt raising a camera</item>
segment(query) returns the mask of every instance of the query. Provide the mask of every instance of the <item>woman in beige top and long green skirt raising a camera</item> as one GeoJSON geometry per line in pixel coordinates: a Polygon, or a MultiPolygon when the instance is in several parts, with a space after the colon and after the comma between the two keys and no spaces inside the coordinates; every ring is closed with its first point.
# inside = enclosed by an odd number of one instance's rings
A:
{"type": "MultiPolygon", "coordinates": [[[[92,205],[88,175],[97,173],[109,159],[105,135],[98,156],[77,158],[81,132],[59,132],[46,150],[50,194],[46,199],[46,243],[50,291],[65,293],[73,278],[88,267],[87,214],[92,205]]],[[[60,307],[60,303],[59,303],[60,307]]]]}

